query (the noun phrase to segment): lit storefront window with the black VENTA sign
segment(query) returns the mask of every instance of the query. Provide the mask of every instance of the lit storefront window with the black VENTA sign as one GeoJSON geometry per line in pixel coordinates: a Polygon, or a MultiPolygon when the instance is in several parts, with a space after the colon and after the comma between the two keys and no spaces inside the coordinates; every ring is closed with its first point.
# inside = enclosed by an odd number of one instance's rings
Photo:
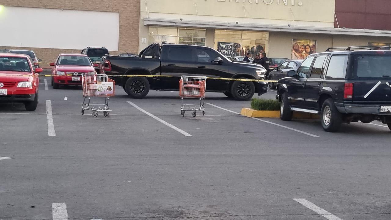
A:
{"type": "Polygon", "coordinates": [[[246,56],[248,52],[255,58],[256,54],[267,53],[268,47],[267,32],[215,30],[214,48],[228,58],[246,56]]]}

